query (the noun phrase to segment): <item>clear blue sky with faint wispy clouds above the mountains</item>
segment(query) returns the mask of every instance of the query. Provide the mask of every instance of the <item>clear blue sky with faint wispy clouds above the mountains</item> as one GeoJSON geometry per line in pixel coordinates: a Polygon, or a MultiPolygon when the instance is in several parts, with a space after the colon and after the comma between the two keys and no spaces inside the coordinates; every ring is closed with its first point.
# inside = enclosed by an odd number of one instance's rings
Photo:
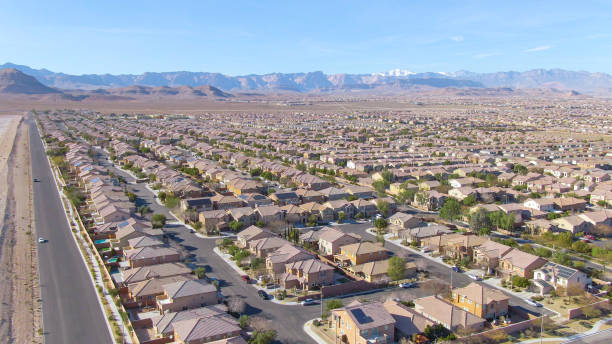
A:
{"type": "Polygon", "coordinates": [[[3,1],[0,63],[70,74],[612,73],[612,1],[3,1]]]}

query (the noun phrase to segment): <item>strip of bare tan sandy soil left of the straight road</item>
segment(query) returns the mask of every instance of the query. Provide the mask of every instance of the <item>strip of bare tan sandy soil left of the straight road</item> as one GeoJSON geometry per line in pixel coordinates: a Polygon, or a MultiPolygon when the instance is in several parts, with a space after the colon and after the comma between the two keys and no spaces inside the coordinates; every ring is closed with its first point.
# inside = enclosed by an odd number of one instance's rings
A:
{"type": "Polygon", "coordinates": [[[18,123],[12,120],[0,143],[0,338],[7,343],[40,343],[29,132],[27,125],[17,127],[18,123]]]}

